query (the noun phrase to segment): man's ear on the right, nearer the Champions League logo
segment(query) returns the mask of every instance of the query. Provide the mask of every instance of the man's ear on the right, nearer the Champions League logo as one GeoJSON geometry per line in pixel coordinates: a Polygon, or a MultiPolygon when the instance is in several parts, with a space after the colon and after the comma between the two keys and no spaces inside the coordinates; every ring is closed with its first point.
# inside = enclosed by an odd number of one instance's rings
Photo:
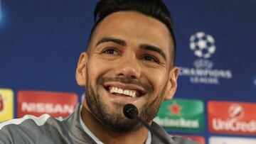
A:
{"type": "Polygon", "coordinates": [[[178,67],[173,67],[169,72],[169,82],[167,82],[164,100],[171,100],[177,89],[178,67]]]}

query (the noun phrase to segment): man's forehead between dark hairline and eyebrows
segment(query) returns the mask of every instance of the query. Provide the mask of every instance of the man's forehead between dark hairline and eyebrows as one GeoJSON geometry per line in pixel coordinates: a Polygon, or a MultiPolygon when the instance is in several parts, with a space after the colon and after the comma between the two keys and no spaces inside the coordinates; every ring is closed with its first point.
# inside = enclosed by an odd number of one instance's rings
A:
{"type": "Polygon", "coordinates": [[[171,57],[170,48],[174,48],[171,34],[161,21],[134,11],[119,11],[104,18],[97,26],[92,43],[104,37],[120,38],[129,45],[142,43],[161,48],[171,57]]]}

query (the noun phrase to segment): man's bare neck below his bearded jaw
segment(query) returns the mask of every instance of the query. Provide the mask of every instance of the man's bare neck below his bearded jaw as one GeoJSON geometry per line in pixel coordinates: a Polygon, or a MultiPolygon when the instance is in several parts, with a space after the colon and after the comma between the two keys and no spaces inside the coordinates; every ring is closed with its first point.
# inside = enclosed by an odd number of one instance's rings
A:
{"type": "Polygon", "coordinates": [[[117,143],[141,143],[146,141],[148,130],[144,127],[139,128],[137,131],[131,131],[128,133],[117,133],[110,131],[108,128],[102,125],[97,118],[92,116],[92,113],[88,109],[86,104],[82,106],[82,121],[87,128],[99,138],[102,143],[117,144],[117,143]]]}

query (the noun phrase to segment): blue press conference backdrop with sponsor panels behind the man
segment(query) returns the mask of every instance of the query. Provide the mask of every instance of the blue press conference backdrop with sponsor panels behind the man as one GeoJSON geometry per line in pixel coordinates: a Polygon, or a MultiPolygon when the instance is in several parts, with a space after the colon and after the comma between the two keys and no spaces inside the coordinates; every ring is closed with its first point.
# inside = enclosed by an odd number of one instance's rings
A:
{"type": "MultiPolygon", "coordinates": [[[[87,48],[96,3],[0,0],[0,121],[31,111],[18,105],[28,106],[17,100],[27,91],[31,99],[38,92],[81,99],[75,68],[87,48]]],[[[175,99],[164,102],[155,121],[172,135],[201,143],[255,144],[256,1],[165,3],[175,22],[180,74],[175,99]]]]}

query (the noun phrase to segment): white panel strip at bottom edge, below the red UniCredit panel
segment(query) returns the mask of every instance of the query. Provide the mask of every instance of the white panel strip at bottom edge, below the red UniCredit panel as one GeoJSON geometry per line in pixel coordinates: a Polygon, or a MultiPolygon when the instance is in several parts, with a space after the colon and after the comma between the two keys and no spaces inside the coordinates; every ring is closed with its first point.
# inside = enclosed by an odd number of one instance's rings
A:
{"type": "Polygon", "coordinates": [[[255,138],[210,137],[209,144],[255,144],[255,138]]]}

